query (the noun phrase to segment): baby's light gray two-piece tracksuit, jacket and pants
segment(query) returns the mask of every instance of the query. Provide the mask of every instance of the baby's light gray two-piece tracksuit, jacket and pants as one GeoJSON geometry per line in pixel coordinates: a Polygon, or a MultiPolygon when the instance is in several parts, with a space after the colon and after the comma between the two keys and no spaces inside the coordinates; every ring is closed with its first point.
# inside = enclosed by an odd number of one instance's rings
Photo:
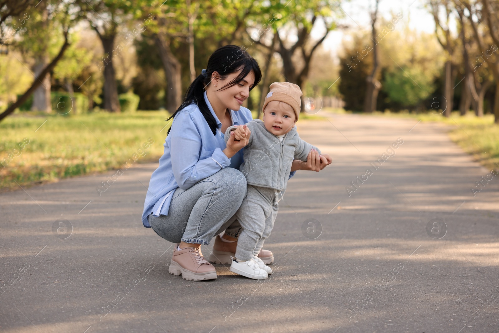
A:
{"type": "MultiPolygon", "coordinates": [[[[306,161],[310,150],[317,149],[301,140],[294,127],[281,141],[267,131],[260,119],[250,121],[247,126],[251,135],[240,170],[248,182],[248,193],[236,212],[243,227],[236,258],[243,261],[258,255],[272,231],[277,203],[286,189],[293,159],[306,161]]],[[[235,128],[231,126],[225,132],[226,142],[235,128]]]]}

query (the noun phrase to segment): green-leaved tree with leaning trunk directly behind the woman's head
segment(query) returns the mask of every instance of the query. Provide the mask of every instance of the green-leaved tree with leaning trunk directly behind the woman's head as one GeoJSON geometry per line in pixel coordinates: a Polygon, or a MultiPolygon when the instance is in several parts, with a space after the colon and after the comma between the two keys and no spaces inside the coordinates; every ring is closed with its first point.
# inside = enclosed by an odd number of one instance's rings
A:
{"type": "MultiPolygon", "coordinates": [[[[196,3],[173,1],[165,2],[152,13],[152,24],[149,34],[153,34],[155,43],[163,63],[166,76],[166,108],[173,112],[182,103],[182,44],[188,46],[189,83],[196,77],[196,59],[198,54],[210,54],[215,47],[234,42],[241,42],[241,31],[246,28],[246,19],[254,14],[250,8],[252,2],[235,0],[210,0],[196,3]],[[230,18],[232,19],[230,19],[230,18]],[[184,32],[186,31],[186,32],[184,32]],[[195,40],[203,40],[203,44],[211,47],[195,53],[195,40]],[[213,43],[217,43],[213,45],[213,43]],[[213,49],[211,49],[213,48],[213,49]]],[[[206,64],[203,59],[203,65],[206,64]]]]}

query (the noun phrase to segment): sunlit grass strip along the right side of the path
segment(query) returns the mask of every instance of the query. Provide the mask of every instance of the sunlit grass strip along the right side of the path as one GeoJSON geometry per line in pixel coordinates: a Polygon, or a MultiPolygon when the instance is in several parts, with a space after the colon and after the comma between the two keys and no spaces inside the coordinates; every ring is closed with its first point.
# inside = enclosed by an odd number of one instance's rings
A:
{"type": "MultiPolygon", "coordinates": [[[[345,110],[327,110],[337,113],[351,113],[345,110]]],[[[402,117],[421,120],[422,122],[441,122],[452,126],[448,132],[452,141],[456,142],[464,151],[490,170],[499,171],[499,125],[494,124],[494,115],[487,114],[477,117],[472,112],[461,116],[458,111],[452,112],[451,117],[428,113],[408,112],[379,112],[373,113],[380,117],[402,117]]]]}

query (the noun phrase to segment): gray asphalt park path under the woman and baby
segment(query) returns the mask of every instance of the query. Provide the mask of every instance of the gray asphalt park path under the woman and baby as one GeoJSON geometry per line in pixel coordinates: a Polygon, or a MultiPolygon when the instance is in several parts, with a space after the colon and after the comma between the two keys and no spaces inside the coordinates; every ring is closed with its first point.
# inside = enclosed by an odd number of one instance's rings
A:
{"type": "Polygon", "coordinates": [[[445,125],[323,115],[297,128],[333,162],[289,181],[267,280],[168,274],[155,163],[0,194],[0,332],[499,332],[499,175],[445,125]]]}

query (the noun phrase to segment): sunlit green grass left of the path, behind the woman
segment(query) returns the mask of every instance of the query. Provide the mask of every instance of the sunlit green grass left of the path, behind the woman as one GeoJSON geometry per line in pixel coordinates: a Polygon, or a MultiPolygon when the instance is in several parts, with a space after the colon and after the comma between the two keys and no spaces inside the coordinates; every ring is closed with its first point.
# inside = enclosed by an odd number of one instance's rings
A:
{"type": "Polygon", "coordinates": [[[0,122],[0,189],[157,161],[168,116],[166,111],[9,116],[0,122]],[[148,139],[154,143],[145,149],[148,139]]]}

